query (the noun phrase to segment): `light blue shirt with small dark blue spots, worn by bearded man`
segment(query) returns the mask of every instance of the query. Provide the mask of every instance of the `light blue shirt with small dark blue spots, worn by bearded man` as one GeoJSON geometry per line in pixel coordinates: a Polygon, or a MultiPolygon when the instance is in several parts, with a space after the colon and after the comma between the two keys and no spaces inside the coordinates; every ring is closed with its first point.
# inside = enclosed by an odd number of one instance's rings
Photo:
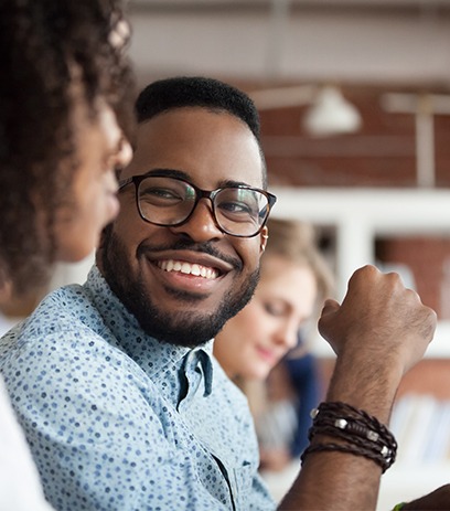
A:
{"type": "Polygon", "coordinates": [[[0,371],[55,509],[275,509],[212,341],[150,338],[96,267],[3,337],[0,371]]]}

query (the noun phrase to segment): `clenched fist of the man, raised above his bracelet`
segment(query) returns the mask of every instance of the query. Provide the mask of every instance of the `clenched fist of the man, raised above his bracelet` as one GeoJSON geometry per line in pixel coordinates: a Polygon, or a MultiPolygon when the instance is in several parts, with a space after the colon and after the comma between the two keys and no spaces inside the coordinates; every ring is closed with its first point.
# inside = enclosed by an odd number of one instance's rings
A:
{"type": "Polygon", "coordinates": [[[326,300],[319,330],[339,359],[404,374],[424,356],[436,323],[436,312],[397,274],[364,266],[350,279],[342,305],[326,300]]]}

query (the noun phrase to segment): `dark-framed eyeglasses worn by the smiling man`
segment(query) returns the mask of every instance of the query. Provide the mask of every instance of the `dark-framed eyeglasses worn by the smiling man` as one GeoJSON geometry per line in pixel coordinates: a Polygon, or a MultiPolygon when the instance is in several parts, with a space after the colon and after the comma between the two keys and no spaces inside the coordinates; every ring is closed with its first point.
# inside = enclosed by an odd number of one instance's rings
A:
{"type": "Polygon", "coordinates": [[[188,181],[168,175],[132,175],[119,183],[119,191],[133,183],[141,219],[162,227],[188,222],[201,199],[210,199],[217,227],[237,237],[256,236],[264,227],[277,198],[250,187],[201,190],[188,181]]]}

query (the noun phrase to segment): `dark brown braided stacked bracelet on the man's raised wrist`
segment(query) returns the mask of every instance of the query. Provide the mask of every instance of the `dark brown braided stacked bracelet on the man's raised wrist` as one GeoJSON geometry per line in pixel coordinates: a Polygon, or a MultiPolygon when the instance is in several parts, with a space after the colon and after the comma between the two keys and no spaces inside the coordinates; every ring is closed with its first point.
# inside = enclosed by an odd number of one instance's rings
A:
{"type": "Polygon", "coordinates": [[[385,472],[395,461],[397,443],[393,434],[376,417],[346,403],[321,403],[312,409],[310,441],[317,435],[336,437],[344,443],[315,443],[303,451],[301,460],[323,450],[339,450],[355,456],[364,456],[378,464],[385,472]]]}

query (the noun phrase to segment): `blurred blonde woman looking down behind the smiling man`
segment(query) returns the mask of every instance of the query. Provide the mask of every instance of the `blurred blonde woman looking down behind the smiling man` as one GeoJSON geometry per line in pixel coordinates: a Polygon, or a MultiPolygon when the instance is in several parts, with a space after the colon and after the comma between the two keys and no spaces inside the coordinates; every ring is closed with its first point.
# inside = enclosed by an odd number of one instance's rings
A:
{"type": "Polygon", "coordinates": [[[311,225],[279,219],[267,225],[255,296],[218,333],[214,354],[249,400],[261,468],[281,470],[307,445],[309,412],[322,394],[303,339],[315,331],[333,279],[311,225]]]}

